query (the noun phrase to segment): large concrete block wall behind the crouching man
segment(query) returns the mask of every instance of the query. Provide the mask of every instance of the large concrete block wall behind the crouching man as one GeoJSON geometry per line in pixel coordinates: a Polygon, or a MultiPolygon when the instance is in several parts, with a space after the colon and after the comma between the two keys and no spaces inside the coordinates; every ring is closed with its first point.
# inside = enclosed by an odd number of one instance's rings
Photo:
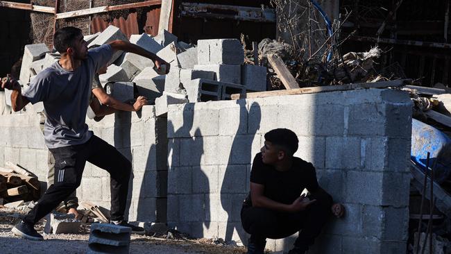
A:
{"type": "MultiPolygon", "coordinates": [[[[354,90],[169,105],[169,226],[194,237],[245,243],[241,202],[264,133],[290,128],[296,156],[346,207],[311,253],[404,253],[407,243],[411,101],[396,90],[354,90]]],[[[269,240],[288,251],[296,239],[269,240]]]]}

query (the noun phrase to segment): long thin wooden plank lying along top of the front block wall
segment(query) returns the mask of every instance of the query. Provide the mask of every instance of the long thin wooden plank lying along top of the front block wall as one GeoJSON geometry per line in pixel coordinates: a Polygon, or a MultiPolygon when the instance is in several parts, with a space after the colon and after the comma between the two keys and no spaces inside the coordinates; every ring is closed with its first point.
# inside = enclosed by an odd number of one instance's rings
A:
{"type": "Polygon", "coordinates": [[[401,87],[405,84],[411,83],[411,79],[399,79],[397,81],[381,81],[375,83],[355,83],[347,85],[329,85],[325,87],[305,87],[291,90],[275,90],[266,92],[250,92],[248,94],[232,94],[232,100],[237,99],[253,99],[264,98],[268,96],[282,96],[292,94],[316,94],[320,92],[336,92],[356,89],[370,89],[370,88],[386,88],[386,87],[401,87]]]}

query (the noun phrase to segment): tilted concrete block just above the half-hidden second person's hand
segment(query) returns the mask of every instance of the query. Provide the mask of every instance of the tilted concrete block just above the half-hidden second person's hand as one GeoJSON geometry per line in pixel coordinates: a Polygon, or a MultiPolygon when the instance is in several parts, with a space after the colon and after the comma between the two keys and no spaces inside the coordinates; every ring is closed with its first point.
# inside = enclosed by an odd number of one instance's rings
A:
{"type": "Polygon", "coordinates": [[[138,94],[146,96],[149,103],[154,103],[164,91],[165,75],[158,75],[152,67],[146,67],[139,73],[133,82],[137,86],[138,94]]]}

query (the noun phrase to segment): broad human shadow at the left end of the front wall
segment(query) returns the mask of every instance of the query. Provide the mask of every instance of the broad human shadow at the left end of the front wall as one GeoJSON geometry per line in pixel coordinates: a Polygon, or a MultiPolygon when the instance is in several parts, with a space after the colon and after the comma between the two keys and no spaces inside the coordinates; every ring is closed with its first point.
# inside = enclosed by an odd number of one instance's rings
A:
{"type": "Polygon", "coordinates": [[[183,123],[180,128],[174,130],[173,123],[167,122],[167,133],[173,133],[175,137],[168,140],[167,154],[172,155],[168,161],[167,191],[177,197],[177,204],[170,206],[168,202],[167,219],[176,222],[180,232],[203,237],[203,226],[210,228],[210,212],[207,212],[210,211],[210,183],[202,169],[204,142],[201,129],[192,130],[194,104],[185,104],[181,111],[183,123]]]}

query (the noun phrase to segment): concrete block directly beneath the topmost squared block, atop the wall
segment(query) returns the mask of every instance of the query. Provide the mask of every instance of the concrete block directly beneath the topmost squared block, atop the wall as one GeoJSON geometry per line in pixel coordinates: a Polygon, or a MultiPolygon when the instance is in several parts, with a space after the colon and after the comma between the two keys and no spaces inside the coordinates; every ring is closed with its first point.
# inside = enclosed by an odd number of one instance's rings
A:
{"type": "Polygon", "coordinates": [[[194,65],[194,69],[213,71],[214,80],[232,84],[241,83],[241,65],[194,65]]]}

